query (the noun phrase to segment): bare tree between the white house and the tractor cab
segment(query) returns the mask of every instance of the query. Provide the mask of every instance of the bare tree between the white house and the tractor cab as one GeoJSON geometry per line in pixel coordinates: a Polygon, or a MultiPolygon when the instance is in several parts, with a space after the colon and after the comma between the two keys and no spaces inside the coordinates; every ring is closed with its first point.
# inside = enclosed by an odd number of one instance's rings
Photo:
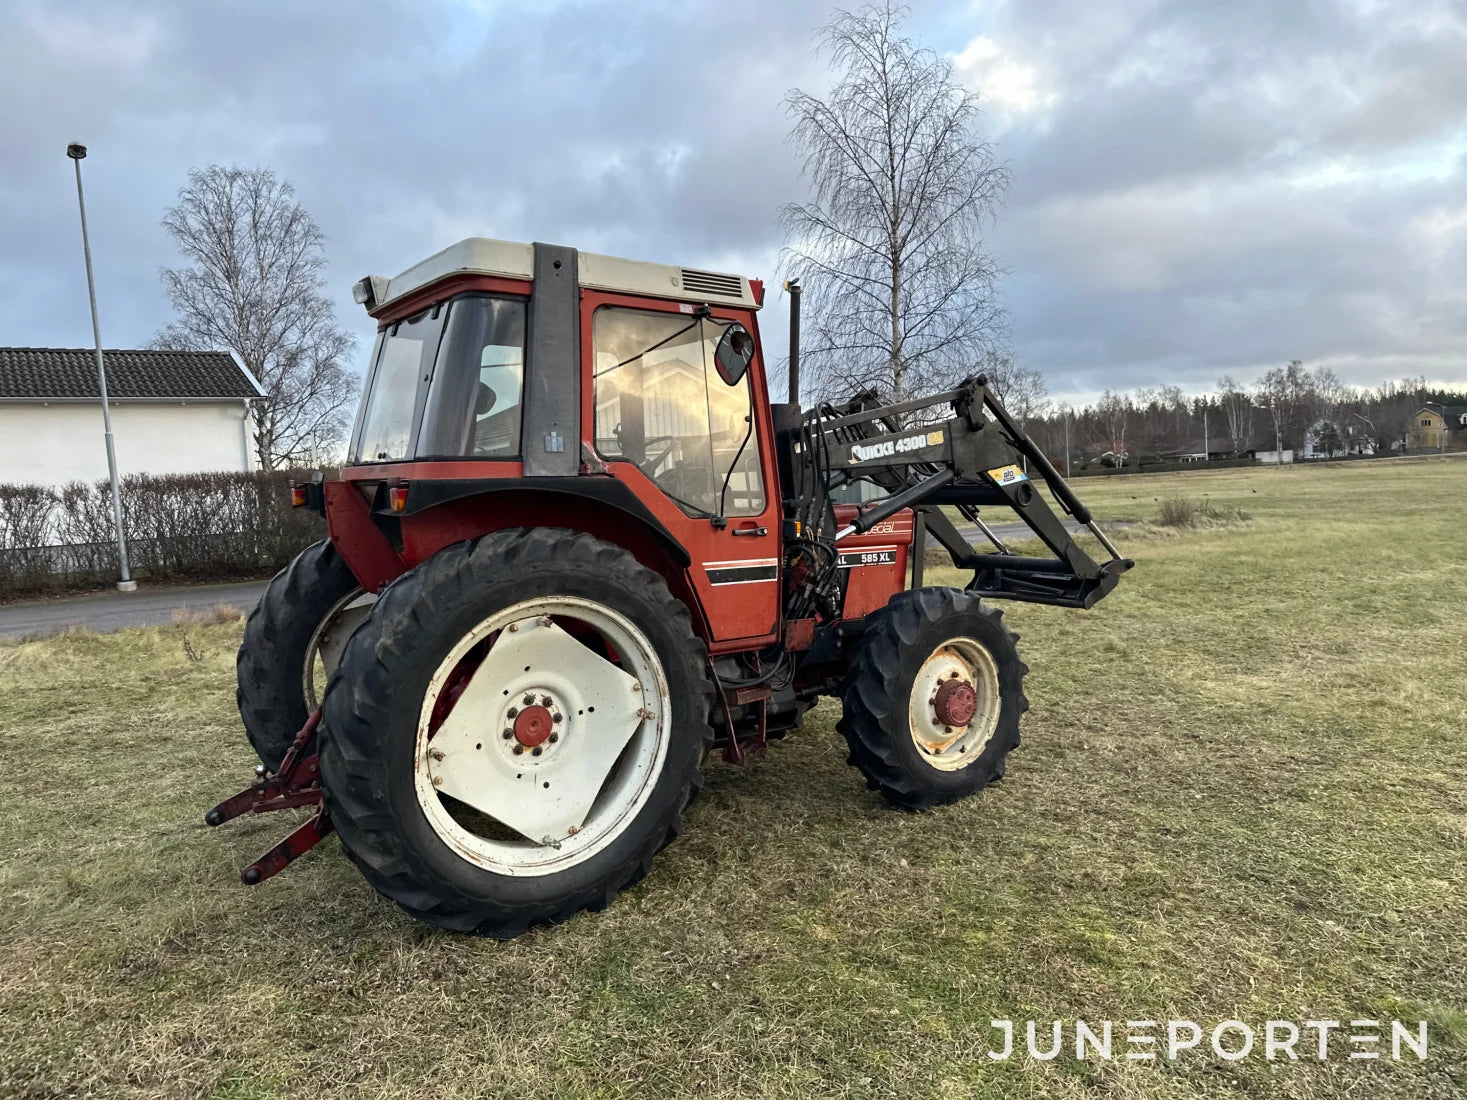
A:
{"type": "Polygon", "coordinates": [[[255,415],[263,469],[320,462],[348,427],[355,339],[321,293],[324,236],[268,169],[194,169],[163,216],[186,267],[164,267],[178,320],[154,346],[227,349],[268,395],[255,415]]]}

